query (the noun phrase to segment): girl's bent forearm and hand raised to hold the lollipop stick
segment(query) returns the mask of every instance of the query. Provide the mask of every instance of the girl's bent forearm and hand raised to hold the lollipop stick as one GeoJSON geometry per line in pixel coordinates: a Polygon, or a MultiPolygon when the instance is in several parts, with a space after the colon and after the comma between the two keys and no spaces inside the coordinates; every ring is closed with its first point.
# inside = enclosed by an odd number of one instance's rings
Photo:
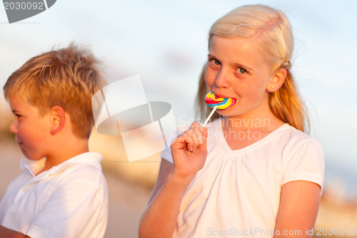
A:
{"type": "Polygon", "coordinates": [[[207,157],[207,129],[193,122],[171,144],[174,164],[161,161],[159,177],[141,218],[139,237],[171,237],[183,194],[207,157]]]}

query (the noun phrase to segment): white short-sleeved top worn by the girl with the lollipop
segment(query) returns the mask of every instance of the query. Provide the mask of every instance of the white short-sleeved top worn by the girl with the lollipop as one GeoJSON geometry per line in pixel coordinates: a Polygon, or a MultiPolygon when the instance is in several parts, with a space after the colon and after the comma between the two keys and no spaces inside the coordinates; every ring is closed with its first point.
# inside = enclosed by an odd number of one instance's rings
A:
{"type": "MultiPolygon", "coordinates": [[[[173,237],[273,237],[283,184],[305,180],[322,189],[320,144],[289,124],[238,150],[226,143],[221,120],[206,127],[206,164],[186,190],[173,237]]],[[[161,157],[172,163],[170,149],[161,157]]]]}

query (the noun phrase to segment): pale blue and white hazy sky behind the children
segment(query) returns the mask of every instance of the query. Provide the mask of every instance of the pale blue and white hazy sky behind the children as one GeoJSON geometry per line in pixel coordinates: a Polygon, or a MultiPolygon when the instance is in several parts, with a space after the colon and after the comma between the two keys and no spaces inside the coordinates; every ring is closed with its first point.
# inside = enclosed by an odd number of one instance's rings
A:
{"type": "MultiPolygon", "coordinates": [[[[326,175],[340,171],[351,180],[346,174],[357,169],[357,1],[58,0],[14,24],[0,6],[1,88],[27,59],[75,41],[101,59],[109,82],[139,74],[147,99],[169,102],[176,124],[188,124],[196,119],[209,27],[243,4],[273,6],[290,19],[292,72],[308,106],[311,136],[323,147],[326,175]]],[[[0,104],[6,104],[2,96],[0,104]]]]}

